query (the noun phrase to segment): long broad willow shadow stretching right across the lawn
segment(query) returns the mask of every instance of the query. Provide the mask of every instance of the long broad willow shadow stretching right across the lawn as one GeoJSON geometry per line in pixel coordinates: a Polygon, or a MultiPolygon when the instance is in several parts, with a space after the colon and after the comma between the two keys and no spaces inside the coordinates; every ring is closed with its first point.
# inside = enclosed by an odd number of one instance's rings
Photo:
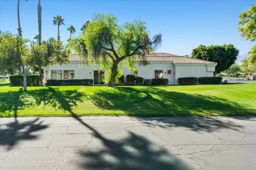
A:
{"type": "Polygon", "coordinates": [[[256,115],[255,109],[228,99],[199,94],[167,92],[154,87],[117,87],[99,90],[91,101],[101,108],[122,110],[130,116],[237,116],[256,115]]]}

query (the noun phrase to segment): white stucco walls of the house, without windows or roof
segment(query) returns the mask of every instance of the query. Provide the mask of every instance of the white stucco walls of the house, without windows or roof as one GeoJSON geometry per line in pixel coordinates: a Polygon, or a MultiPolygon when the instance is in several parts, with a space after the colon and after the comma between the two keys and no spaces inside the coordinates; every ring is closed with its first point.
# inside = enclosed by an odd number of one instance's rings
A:
{"type": "MultiPolygon", "coordinates": [[[[163,78],[169,80],[169,85],[178,84],[178,78],[181,77],[202,77],[213,76],[216,65],[206,64],[174,64],[172,62],[150,62],[150,65],[140,66],[137,64],[138,76],[144,79],[155,78],[155,70],[163,70],[163,78]],[[167,70],[171,70],[171,75],[167,75],[167,70]]],[[[126,82],[126,76],[132,75],[132,71],[127,69],[123,64],[121,66],[123,76],[126,82]]],[[[99,65],[81,65],[77,61],[72,61],[68,65],[53,65],[45,67],[44,70],[49,70],[49,79],[51,79],[51,70],[62,70],[62,79],[64,70],[74,70],[74,79],[94,79],[95,70],[100,70],[99,65]]],[[[46,79],[44,78],[44,82],[46,79]]]]}

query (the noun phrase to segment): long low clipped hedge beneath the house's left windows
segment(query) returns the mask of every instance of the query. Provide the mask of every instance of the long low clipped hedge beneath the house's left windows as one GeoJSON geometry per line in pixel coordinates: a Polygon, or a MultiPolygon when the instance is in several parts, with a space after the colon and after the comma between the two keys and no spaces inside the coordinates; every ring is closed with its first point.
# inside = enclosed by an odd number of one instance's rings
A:
{"type": "Polygon", "coordinates": [[[93,79],[47,80],[47,86],[92,86],[93,79]]]}

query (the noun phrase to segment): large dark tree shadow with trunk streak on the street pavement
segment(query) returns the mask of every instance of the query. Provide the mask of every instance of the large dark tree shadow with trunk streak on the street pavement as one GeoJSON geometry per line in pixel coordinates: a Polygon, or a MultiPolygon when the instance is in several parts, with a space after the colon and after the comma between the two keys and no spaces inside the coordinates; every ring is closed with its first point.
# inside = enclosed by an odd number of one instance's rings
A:
{"type": "Polygon", "coordinates": [[[92,139],[100,140],[104,146],[77,149],[79,157],[74,158],[70,165],[76,163],[83,169],[192,169],[174,153],[156,146],[142,135],[128,131],[128,136],[118,141],[108,139],[78,116],[72,116],[93,132],[92,139]]]}

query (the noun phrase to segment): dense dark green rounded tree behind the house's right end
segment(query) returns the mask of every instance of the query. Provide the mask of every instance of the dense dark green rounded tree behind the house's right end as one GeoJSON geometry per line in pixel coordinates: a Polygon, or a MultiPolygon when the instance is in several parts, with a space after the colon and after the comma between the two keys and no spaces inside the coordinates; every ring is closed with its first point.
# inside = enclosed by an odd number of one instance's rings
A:
{"type": "Polygon", "coordinates": [[[217,74],[228,69],[233,63],[235,63],[238,54],[239,50],[232,44],[225,44],[222,46],[200,45],[198,48],[192,50],[191,57],[218,63],[215,67],[215,74],[217,74]]]}

